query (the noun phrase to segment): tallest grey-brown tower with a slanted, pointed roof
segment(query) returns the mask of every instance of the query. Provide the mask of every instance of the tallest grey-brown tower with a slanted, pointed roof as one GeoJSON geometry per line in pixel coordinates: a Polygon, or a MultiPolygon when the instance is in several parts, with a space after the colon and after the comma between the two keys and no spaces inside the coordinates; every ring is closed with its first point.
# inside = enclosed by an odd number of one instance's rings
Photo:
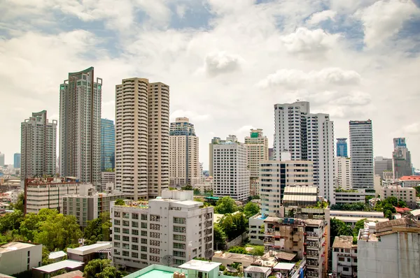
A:
{"type": "Polygon", "coordinates": [[[102,78],[93,67],[77,73],[60,85],[59,173],[78,177],[94,186],[101,184],[102,78]]]}

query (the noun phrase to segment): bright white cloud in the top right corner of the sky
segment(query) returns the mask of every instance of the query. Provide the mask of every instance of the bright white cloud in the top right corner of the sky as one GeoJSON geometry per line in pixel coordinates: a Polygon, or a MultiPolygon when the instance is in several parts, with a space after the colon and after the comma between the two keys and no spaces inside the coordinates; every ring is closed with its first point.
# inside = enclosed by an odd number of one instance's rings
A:
{"type": "Polygon", "coordinates": [[[380,0],[358,10],[355,15],[363,22],[365,44],[374,47],[398,34],[402,24],[414,15],[420,15],[420,10],[411,0],[380,0]]]}

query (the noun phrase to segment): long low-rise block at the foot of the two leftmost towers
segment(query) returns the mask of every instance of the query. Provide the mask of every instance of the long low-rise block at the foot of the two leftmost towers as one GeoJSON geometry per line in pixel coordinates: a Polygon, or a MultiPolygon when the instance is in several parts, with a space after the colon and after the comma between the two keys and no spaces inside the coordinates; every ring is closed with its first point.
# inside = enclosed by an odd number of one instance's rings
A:
{"type": "Polygon", "coordinates": [[[72,178],[35,178],[25,180],[24,213],[38,213],[43,208],[57,209],[61,212],[62,197],[66,194],[78,193],[81,184],[72,178]]]}

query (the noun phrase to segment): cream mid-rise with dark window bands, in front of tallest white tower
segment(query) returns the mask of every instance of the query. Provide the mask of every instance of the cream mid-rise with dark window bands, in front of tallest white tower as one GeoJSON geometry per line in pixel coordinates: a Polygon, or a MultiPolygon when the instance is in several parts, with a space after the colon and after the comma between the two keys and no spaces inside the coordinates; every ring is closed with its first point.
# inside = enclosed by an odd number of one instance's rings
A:
{"type": "Polygon", "coordinates": [[[263,216],[275,217],[280,212],[286,186],[314,186],[313,162],[260,162],[260,198],[263,216]]]}

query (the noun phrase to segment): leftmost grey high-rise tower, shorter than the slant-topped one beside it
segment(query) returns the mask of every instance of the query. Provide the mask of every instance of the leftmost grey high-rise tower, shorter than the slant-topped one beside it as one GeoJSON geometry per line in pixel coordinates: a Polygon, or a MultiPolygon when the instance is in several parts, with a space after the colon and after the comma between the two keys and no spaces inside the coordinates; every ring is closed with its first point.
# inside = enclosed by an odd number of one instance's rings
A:
{"type": "Polygon", "coordinates": [[[34,112],[20,130],[20,178],[55,176],[57,121],[49,122],[45,110],[34,112]]]}

